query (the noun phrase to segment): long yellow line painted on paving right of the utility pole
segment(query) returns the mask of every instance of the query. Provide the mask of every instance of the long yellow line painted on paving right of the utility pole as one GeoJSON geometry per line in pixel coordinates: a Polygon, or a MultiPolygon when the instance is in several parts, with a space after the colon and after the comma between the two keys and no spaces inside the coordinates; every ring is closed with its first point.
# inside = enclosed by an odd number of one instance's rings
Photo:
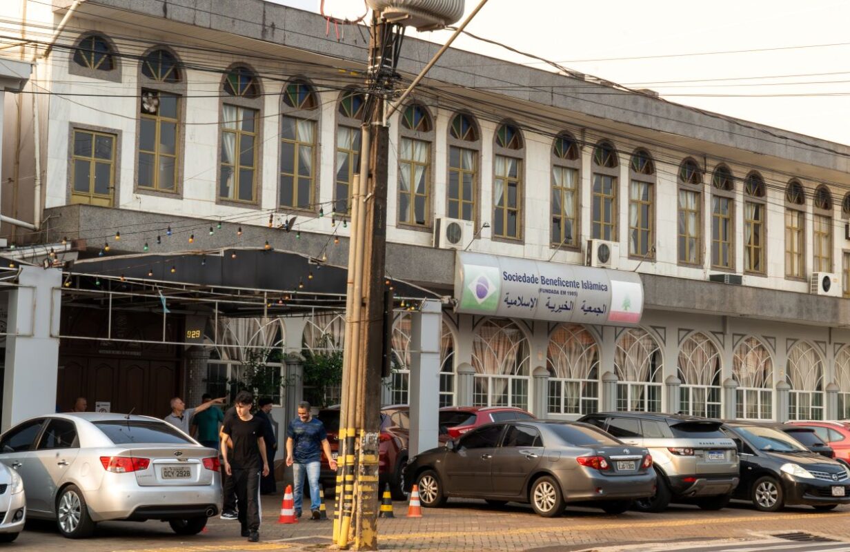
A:
{"type": "MultiPolygon", "coordinates": [[[[729,523],[745,523],[748,521],[785,521],[785,520],[802,520],[812,519],[813,514],[796,514],[796,515],[743,515],[739,517],[710,517],[706,519],[688,519],[688,520],[669,520],[669,521],[620,521],[617,523],[594,523],[585,525],[562,525],[556,527],[526,527],[513,528],[500,532],[497,530],[490,531],[463,531],[463,532],[418,532],[404,533],[398,535],[382,534],[378,537],[382,541],[405,540],[407,538],[449,538],[449,537],[485,537],[493,534],[509,534],[522,535],[533,533],[553,533],[553,532],[578,532],[578,531],[606,531],[610,529],[637,529],[637,528],[654,528],[654,527],[681,527],[681,526],[698,526],[698,525],[720,525],[729,523]]],[[[830,519],[836,517],[850,517],[850,513],[846,514],[830,514],[830,519]]]]}

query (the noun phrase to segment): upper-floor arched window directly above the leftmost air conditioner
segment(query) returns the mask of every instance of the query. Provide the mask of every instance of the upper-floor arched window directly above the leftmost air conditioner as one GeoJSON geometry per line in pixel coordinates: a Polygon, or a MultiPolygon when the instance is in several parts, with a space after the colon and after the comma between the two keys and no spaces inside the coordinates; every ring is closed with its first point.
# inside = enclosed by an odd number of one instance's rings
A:
{"type": "Polygon", "coordinates": [[[449,125],[449,186],[447,213],[450,219],[478,219],[479,151],[481,140],[473,118],[464,113],[449,125]]]}

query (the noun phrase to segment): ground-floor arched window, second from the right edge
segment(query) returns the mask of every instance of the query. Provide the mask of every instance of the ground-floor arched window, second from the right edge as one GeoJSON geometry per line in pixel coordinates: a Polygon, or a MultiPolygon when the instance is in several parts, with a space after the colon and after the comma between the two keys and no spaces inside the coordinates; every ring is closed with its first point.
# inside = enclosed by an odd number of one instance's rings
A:
{"type": "Polygon", "coordinates": [[[824,361],[811,344],[798,341],[791,347],[785,378],[791,385],[788,392],[789,418],[824,419],[824,361]]]}

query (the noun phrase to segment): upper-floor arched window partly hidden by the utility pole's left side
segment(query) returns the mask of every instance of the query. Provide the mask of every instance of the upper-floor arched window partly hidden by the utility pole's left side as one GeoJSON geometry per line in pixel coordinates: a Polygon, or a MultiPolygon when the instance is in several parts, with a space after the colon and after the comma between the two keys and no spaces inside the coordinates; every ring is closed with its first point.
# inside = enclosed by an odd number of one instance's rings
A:
{"type": "Polygon", "coordinates": [[[334,187],[334,212],[345,216],[351,210],[354,174],[360,173],[360,124],[366,98],[354,90],[340,96],[337,109],[337,184],[334,187]]]}

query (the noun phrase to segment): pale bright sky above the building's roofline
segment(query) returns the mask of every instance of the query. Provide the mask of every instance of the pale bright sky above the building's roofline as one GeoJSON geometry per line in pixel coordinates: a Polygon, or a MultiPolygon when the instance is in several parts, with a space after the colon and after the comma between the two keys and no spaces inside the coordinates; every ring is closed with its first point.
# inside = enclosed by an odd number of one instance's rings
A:
{"type": "MultiPolygon", "coordinates": [[[[466,13],[478,3],[466,0],[466,13]]],[[[325,0],[328,15],[364,12],[360,0],[325,0]]],[[[847,21],[846,0],[489,0],[467,31],[673,102],[850,145],[847,21]]],[[[449,35],[408,31],[435,43],[449,35]]],[[[547,68],[471,37],[453,46],[547,68]]]]}

